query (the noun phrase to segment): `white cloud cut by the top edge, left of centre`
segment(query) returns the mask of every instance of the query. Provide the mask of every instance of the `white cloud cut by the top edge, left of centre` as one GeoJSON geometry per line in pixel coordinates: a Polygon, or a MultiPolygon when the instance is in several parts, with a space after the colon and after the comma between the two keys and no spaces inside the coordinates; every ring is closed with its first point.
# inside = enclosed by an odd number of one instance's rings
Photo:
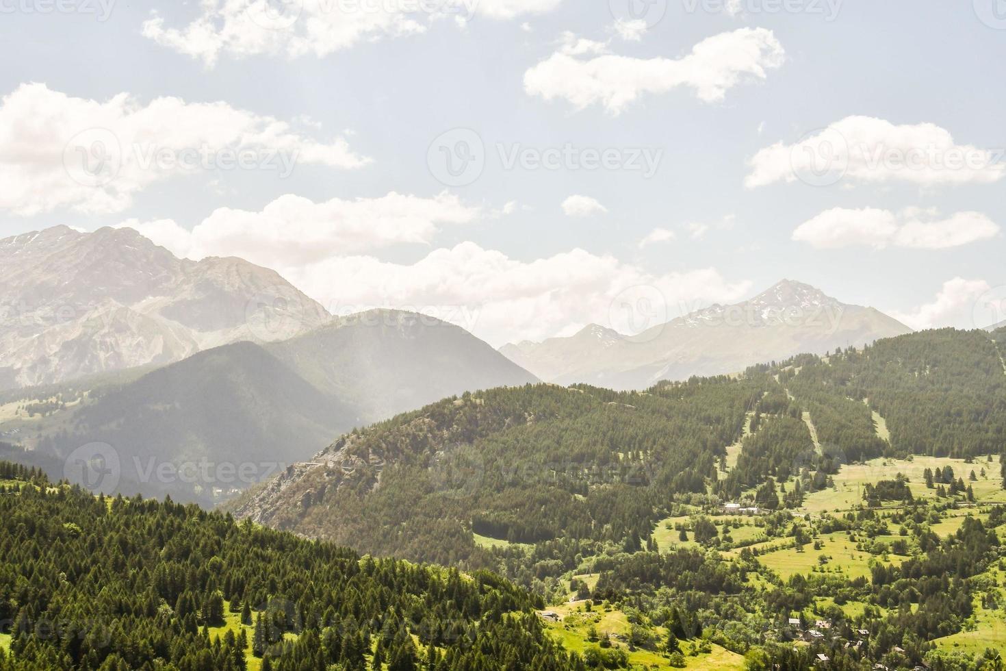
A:
{"type": "Polygon", "coordinates": [[[144,22],[145,37],[213,66],[222,54],[321,57],[356,44],[424,33],[438,19],[461,26],[476,15],[511,19],[551,11],[561,0],[202,0],[201,13],[183,28],[166,25],[156,12],[144,22]]]}

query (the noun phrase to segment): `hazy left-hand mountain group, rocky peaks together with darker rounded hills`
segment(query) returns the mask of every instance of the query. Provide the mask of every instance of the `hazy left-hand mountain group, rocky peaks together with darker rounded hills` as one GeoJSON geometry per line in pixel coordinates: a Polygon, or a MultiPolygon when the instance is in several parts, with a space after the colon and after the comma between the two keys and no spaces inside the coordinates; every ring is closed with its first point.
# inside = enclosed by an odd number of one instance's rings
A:
{"type": "Polygon", "coordinates": [[[61,478],[74,451],[104,446],[119,464],[110,492],[210,505],[353,427],[538,381],[457,326],[334,318],[271,270],[176,259],[129,228],[0,240],[0,440],[13,444],[0,456],[61,478]],[[178,471],[200,464],[249,470],[178,471]]]}

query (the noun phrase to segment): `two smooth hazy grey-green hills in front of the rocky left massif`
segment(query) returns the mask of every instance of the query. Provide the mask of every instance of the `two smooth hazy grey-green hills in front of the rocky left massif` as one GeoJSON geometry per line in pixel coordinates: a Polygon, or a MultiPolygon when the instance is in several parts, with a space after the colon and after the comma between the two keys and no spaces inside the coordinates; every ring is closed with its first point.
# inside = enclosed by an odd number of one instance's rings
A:
{"type": "MultiPolygon", "coordinates": [[[[87,395],[79,384],[67,385],[61,399],[68,406],[49,411],[39,403],[44,416],[22,412],[0,424],[17,430],[5,440],[31,450],[0,458],[62,477],[74,451],[106,444],[102,449],[111,448],[119,464],[114,491],[210,504],[308,459],[353,427],[444,396],[535,381],[459,327],[374,311],[288,341],[199,352],[87,395]],[[203,464],[209,478],[201,470],[194,478],[176,470],[203,464]],[[167,477],[158,476],[158,468],[167,469],[167,477]],[[237,475],[241,469],[245,477],[237,475]]],[[[56,392],[48,387],[39,395],[56,392]]]]}

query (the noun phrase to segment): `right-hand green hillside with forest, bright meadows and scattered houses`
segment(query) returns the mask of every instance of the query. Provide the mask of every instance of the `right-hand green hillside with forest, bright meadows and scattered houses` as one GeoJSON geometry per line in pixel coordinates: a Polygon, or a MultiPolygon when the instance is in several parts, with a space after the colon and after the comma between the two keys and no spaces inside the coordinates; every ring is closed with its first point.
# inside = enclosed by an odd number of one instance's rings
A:
{"type": "Polygon", "coordinates": [[[937,331],[646,392],[493,389],[355,430],[232,510],[500,571],[591,665],[984,669],[1004,382],[988,334],[937,331]]]}

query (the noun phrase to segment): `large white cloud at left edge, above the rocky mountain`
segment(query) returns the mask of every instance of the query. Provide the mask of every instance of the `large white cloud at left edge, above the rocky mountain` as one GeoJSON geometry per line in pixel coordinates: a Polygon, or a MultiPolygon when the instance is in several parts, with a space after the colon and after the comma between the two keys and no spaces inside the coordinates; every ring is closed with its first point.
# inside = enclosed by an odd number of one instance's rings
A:
{"type": "Polygon", "coordinates": [[[367,159],[342,139],[319,142],[225,103],[144,105],[128,94],[103,103],[43,83],[0,102],[0,209],[16,214],[119,212],[173,175],[237,167],[285,175],[298,163],[356,168],[367,159]]]}

